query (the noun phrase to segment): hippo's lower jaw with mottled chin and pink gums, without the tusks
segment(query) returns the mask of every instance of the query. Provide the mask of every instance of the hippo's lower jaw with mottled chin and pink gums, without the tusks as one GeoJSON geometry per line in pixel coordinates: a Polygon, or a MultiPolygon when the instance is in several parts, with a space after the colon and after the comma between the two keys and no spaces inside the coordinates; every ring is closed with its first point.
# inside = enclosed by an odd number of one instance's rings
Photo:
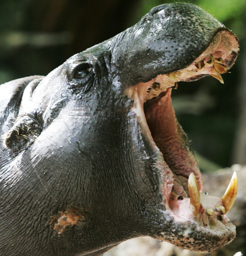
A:
{"type": "MultiPolygon", "coordinates": [[[[212,251],[225,246],[236,237],[236,227],[224,215],[222,198],[200,192],[200,207],[198,213],[194,215],[189,188],[185,188],[186,185],[182,186],[188,197],[183,196],[179,201],[182,203],[177,205],[179,195],[175,186],[181,183],[177,182],[175,185],[178,176],[171,171],[164,159],[162,164],[159,160],[156,166],[161,174],[160,191],[165,210],[163,231],[152,236],[153,238],[165,240],[183,249],[212,251]]],[[[187,179],[184,183],[188,183],[187,179]]]]}

